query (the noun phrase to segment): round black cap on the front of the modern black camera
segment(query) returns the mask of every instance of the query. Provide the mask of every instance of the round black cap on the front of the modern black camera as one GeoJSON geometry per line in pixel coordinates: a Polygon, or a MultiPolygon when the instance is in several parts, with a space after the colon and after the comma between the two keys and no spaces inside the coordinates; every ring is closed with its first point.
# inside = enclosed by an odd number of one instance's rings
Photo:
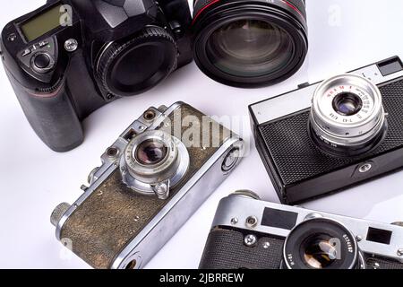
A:
{"type": "Polygon", "coordinates": [[[176,65],[175,39],[167,30],[152,26],[130,39],[107,44],[99,54],[96,74],[105,91],[125,97],[150,90],[176,65]]]}

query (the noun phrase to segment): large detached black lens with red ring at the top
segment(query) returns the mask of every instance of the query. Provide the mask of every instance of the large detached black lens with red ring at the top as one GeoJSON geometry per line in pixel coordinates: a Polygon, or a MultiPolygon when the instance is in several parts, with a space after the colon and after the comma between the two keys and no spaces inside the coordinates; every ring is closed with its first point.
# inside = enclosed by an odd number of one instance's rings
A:
{"type": "Polygon", "coordinates": [[[197,0],[194,58],[212,79],[234,86],[278,83],[296,73],[307,50],[304,1],[197,0]]]}

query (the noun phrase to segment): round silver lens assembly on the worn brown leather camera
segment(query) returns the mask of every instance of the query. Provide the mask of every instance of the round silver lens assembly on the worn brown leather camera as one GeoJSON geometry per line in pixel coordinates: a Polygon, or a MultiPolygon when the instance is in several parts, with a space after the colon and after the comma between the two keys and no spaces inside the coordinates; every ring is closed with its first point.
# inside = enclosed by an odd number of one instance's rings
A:
{"type": "MultiPolygon", "coordinates": [[[[142,195],[167,194],[189,168],[184,143],[159,130],[137,135],[127,145],[120,171],[127,187],[142,195]]],[[[163,195],[159,195],[164,197],[163,195]]]]}

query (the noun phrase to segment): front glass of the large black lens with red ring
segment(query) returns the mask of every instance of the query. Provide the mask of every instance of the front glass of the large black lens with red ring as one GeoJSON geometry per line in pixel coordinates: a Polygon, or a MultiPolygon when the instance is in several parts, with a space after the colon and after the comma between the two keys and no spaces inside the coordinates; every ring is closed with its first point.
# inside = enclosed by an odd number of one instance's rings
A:
{"type": "Polygon", "coordinates": [[[220,71],[235,76],[262,76],[287,65],[293,41],[286,30],[270,22],[238,20],[215,30],[207,55],[220,71]]]}

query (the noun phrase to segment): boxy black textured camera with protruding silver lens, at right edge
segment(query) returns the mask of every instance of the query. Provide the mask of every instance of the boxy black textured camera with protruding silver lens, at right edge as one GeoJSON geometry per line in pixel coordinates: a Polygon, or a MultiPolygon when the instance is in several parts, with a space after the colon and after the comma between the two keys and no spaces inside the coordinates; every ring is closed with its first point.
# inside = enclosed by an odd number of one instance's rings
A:
{"type": "Polygon", "coordinates": [[[250,106],[253,134],[284,204],[403,166],[403,65],[392,57],[250,106]]]}

